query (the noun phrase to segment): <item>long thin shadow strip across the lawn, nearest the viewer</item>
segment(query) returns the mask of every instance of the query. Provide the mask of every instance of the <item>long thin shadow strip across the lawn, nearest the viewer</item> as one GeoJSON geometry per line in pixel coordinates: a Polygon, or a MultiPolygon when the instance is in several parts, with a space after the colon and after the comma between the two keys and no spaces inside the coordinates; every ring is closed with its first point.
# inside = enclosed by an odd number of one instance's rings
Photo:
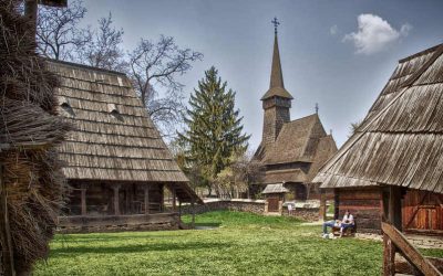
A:
{"type": "Polygon", "coordinates": [[[222,248],[231,247],[227,243],[169,243],[169,244],[137,244],[137,245],[120,245],[120,246],[101,246],[101,247],[87,247],[87,246],[73,246],[63,248],[51,250],[51,257],[56,255],[65,254],[119,254],[119,253],[142,253],[142,252],[164,252],[164,251],[189,251],[189,250],[208,250],[208,248],[222,248]]]}

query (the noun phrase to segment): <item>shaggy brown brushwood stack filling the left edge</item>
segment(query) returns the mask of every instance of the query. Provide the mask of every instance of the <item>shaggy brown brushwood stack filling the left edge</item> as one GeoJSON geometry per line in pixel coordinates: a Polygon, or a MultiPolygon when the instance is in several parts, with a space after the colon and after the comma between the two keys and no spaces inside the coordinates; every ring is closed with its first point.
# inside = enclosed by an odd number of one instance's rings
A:
{"type": "Polygon", "coordinates": [[[55,116],[58,79],[18,4],[0,0],[0,274],[23,275],[48,254],[65,191],[54,145],[70,125],[55,116]]]}

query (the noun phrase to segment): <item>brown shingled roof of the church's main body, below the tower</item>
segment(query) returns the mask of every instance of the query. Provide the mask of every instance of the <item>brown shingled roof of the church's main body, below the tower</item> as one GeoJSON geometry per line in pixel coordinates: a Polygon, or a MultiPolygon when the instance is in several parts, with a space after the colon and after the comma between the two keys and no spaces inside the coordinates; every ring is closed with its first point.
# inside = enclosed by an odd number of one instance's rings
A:
{"type": "Polygon", "coordinates": [[[259,150],[262,150],[261,162],[265,166],[309,163],[306,170],[269,169],[265,183],[310,182],[318,169],[337,151],[337,146],[332,136],[324,131],[319,116],[312,114],[284,124],[277,140],[259,150]]]}

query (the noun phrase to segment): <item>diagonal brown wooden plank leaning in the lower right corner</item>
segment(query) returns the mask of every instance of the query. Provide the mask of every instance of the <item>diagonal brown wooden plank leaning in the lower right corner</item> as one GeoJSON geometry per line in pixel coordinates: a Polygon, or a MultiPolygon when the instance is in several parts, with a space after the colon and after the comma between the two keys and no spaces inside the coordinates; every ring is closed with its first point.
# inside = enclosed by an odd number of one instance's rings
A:
{"type": "Polygon", "coordinates": [[[415,268],[426,276],[443,276],[433,264],[425,259],[419,251],[408,242],[406,237],[399,230],[385,222],[382,222],[381,227],[384,235],[392,241],[394,246],[415,268]]]}

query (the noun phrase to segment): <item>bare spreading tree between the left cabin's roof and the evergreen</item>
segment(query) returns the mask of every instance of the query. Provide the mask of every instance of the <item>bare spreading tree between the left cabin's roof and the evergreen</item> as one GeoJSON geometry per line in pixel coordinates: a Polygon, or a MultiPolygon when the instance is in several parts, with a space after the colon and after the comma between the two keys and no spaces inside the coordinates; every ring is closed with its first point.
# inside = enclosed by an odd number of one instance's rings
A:
{"type": "Polygon", "coordinates": [[[179,49],[173,38],[164,35],[156,43],[142,39],[128,54],[127,73],[164,136],[175,134],[174,126],[181,123],[185,107],[183,84],[176,77],[188,72],[192,62],[202,59],[202,53],[179,49]],[[165,92],[163,96],[159,91],[165,92]]]}

